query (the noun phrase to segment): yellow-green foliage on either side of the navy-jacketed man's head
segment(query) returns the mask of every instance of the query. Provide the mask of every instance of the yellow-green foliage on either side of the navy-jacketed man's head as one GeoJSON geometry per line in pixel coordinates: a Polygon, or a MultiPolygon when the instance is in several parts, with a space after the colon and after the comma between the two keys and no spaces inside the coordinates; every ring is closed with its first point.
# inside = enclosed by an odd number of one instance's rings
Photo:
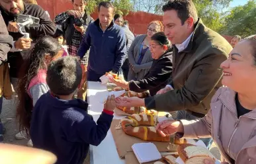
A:
{"type": "MultiPolygon", "coordinates": [[[[87,0],[87,6],[85,8],[87,13],[91,14],[95,10],[97,10],[97,5],[99,5],[101,1],[102,0],[87,0]]],[[[130,2],[130,0],[112,0],[110,2],[114,5],[116,13],[122,14],[124,16],[132,10],[132,3],[130,2]]]]}

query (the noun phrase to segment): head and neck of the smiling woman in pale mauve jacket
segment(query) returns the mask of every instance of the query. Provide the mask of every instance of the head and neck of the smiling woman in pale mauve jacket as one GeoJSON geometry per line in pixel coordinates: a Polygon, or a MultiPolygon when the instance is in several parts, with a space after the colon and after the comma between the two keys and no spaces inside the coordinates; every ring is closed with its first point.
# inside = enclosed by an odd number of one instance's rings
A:
{"type": "Polygon", "coordinates": [[[256,74],[255,49],[255,36],[245,38],[235,45],[230,57],[220,66],[224,72],[222,79],[224,86],[237,92],[251,92],[251,87],[256,84],[256,76],[253,76],[256,74]]]}

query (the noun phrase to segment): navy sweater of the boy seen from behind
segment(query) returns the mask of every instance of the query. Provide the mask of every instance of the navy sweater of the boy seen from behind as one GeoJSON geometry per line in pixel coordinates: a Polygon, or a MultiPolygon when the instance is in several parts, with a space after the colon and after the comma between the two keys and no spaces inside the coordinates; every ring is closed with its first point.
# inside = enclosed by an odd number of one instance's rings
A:
{"type": "Polygon", "coordinates": [[[54,153],[56,164],[82,164],[89,144],[101,144],[113,119],[103,112],[96,124],[87,107],[81,99],[64,101],[49,92],[42,95],[32,111],[30,136],[34,148],[54,153]]]}

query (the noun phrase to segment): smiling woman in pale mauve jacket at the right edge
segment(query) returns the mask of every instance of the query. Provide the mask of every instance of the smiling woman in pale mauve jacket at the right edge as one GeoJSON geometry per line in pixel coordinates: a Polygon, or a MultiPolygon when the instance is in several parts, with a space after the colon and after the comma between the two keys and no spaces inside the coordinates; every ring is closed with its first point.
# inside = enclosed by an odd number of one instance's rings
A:
{"type": "Polygon", "coordinates": [[[216,92],[204,118],[165,121],[157,124],[157,130],[163,136],[176,132],[184,138],[212,136],[224,161],[256,163],[256,36],[239,41],[221,68],[222,84],[228,87],[216,92]]]}

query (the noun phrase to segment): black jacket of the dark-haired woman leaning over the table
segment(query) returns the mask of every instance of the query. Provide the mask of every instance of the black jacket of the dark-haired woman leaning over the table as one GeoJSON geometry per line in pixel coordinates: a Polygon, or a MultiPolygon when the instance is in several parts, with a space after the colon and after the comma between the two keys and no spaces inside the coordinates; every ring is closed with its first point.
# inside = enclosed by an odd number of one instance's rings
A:
{"type": "Polygon", "coordinates": [[[151,96],[154,96],[161,88],[169,82],[173,70],[173,52],[170,49],[159,59],[153,60],[152,66],[148,73],[141,80],[131,80],[129,82],[130,90],[134,92],[144,92],[149,90],[151,96]]]}

